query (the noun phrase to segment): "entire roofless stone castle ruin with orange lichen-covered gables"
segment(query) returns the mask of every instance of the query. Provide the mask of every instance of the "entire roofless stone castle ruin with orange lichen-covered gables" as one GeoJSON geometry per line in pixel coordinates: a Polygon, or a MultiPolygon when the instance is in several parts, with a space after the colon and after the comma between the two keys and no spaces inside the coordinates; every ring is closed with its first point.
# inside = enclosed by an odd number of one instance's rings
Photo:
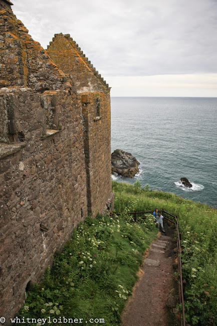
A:
{"type": "Polygon", "coordinates": [[[87,215],[112,209],[110,88],[69,34],[44,50],[0,0],[0,315],[87,215]]]}

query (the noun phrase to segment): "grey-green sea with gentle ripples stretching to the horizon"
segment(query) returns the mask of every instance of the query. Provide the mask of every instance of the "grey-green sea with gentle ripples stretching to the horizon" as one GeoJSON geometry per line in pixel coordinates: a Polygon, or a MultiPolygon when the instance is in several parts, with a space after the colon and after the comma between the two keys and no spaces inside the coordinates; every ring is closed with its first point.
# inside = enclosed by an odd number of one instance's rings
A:
{"type": "Polygon", "coordinates": [[[217,207],[217,98],[112,97],[111,150],[140,162],[142,187],[217,207]],[[192,188],[183,187],[187,178],[192,188]]]}

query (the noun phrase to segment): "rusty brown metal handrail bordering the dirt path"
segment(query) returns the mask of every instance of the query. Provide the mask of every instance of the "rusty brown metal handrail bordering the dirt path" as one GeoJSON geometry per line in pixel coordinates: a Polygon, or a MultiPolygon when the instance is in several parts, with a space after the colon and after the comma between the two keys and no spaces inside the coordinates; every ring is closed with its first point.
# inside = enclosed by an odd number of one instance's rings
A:
{"type": "MultiPolygon", "coordinates": [[[[134,222],[136,221],[137,214],[147,214],[147,213],[152,213],[153,211],[142,211],[142,212],[131,212],[131,213],[112,213],[111,215],[113,216],[114,214],[119,216],[122,214],[126,214],[126,215],[133,215],[134,216],[134,222]]],[[[184,294],[183,294],[183,284],[182,284],[182,271],[181,271],[181,244],[180,244],[180,233],[179,233],[179,225],[178,225],[178,220],[177,220],[177,216],[164,211],[164,209],[162,210],[158,210],[158,212],[162,212],[163,216],[164,214],[170,215],[171,217],[173,217],[175,219],[175,221],[172,221],[171,219],[169,219],[168,217],[164,218],[168,221],[170,221],[171,223],[175,224],[175,228],[176,228],[176,232],[177,232],[177,252],[178,252],[178,273],[179,273],[179,303],[182,305],[182,318],[181,318],[181,326],[186,326],[185,323],[185,313],[184,313],[184,294]]],[[[140,217],[141,219],[145,219],[146,217],[140,217]]]]}

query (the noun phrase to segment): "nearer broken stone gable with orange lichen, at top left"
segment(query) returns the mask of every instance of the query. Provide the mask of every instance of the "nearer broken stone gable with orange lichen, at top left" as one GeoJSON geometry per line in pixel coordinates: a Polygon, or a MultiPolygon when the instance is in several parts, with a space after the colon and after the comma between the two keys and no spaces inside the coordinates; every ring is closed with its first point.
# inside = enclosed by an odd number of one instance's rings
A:
{"type": "Polygon", "coordinates": [[[11,5],[0,0],[0,88],[31,87],[41,92],[70,88],[69,78],[28,34],[11,5]]]}

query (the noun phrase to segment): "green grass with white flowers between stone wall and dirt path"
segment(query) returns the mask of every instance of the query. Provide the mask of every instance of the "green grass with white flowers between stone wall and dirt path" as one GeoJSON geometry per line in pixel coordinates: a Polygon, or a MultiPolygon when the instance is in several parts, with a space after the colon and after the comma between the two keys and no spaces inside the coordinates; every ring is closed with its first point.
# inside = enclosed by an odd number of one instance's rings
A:
{"type": "Polygon", "coordinates": [[[47,270],[43,282],[28,291],[19,316],[64,316],[84,321],[104,318],[107,326],[119,325],[142,255],[156,235],[152,215],[145,223],[133,223],[124,215],[87,218],[74,230],[63,250],[56,253],[53,268],[47,270]]]}

